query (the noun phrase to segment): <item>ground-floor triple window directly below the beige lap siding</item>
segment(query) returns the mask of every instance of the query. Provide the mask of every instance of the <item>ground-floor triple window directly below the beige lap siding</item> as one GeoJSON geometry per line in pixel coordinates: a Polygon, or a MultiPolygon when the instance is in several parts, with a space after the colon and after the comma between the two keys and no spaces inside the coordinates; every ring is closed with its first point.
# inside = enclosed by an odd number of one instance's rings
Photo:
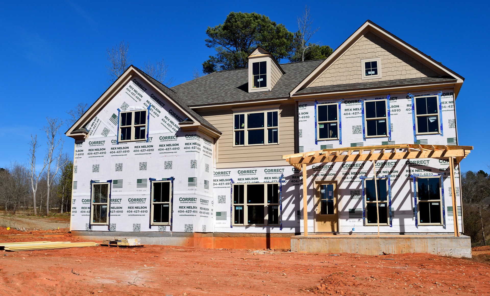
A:
{"type": "Polygon", "coordinates": [[[279,184],[233,185],[233,225],[278,225],[279,184]]]}

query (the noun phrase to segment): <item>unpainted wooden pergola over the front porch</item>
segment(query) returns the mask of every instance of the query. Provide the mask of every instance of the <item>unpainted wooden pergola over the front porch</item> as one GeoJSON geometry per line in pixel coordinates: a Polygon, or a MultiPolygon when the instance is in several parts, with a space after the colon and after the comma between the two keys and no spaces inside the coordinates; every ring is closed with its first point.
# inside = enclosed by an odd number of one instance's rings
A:
{"type": "MultiPolygon", "coordinates": [[[[456,194],[454,190],[454,166],[459,164],[472,149],[472,146],[399,144],[323,149],[318,151],[283,155],[282,158],[286,159],[286,161],[296,169],[303,171],[303,211],[305,213],[303,215],[303,227],[305,236],[308,236],[308,216],[306,215],[308,209],[306,166],[315,163],[372,161],[374,168],[376,168],[375,162],[382,160],[449,158],[451,188],[453,188],[453,190],[451,190],[451,197],[453,204],[454,236],[459,236],[458,211],[456,207],[456,194]]],[[[374,180],[374,184],[377,186],[376,169],[374,169],[374,180]]],[[[378,210],[376,207],[376,212],[377,211],[378,210]]],[[[379,213],[377,213],[377,215],[379,235],[379,213]]]]}

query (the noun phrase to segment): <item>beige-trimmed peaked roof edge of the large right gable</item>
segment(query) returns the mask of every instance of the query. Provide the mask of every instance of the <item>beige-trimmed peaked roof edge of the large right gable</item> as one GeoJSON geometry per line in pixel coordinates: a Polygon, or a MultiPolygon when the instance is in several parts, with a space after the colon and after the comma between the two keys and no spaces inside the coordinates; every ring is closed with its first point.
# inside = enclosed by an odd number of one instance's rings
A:
{"type": "MultiPolygon", "coordinates": [[[[405,53],[413,56],[416,58],[419,62],[423,63],[424,65],[430,67],[432,70],[434,70],[436,73],[440,74],[441,77],[450,77],[454,78],[455,81],[455,95],[459,92],[461,85],[463,84],[463,81],[465,80],[464,77],[461,75],[455,73],[454,71],[450,70],[449,68],[445,67],[444,65],[440,64],[430,56],[426,55],[425,53],[421,52],[420,50],[414,48],[413,46],[409,45],[405,41],[401,40],[400,38],[396,37],[392,33],[388,32],[387,30],[383,29],[382,27],[374,24],[371,21],[366,21],[361,27],[359,27],[352,35],[350,35],[347,40],[345,40],[341,46],[339,46],[335,51],[328,57],[326,58],[318,67],[315,69],[311,74],[309,74],[301,83],[299,83],[294,90],[290,93],[291,97],[293,97],[295,94],[301,94],[300,90],[303,90],[308,87],[308,85],[314,81],[320,74],[322,74],[330,65],[335,63],[345,51],[347,51],[351,46],[353,46],[359,38],[361,38],[364,34],[367,32],[371,32],[375,34],[376,36],[379,36],[392,44],[393,46],[403,50],[405,53]]],[[[400,79],[404,80],[404,79],[400,79]]],[[[345,84],[344,84],[345,86],[345,84]]],[[[340,86],[339,86],[340,87],[340,86]]],[[[318,89],[317,89],[318,90],[318,89]]]]}

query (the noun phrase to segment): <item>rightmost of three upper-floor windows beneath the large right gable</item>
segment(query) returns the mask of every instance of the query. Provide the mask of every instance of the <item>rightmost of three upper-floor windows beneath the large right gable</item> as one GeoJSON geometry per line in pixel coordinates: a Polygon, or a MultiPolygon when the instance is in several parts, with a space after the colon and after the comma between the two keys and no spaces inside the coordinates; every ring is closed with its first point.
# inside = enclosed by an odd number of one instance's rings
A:
{"type": "Polygon", "coordinates": [[[417,134],[438,134],[438,97],[415,98],[415,116],[417,121],[417,134]]]}

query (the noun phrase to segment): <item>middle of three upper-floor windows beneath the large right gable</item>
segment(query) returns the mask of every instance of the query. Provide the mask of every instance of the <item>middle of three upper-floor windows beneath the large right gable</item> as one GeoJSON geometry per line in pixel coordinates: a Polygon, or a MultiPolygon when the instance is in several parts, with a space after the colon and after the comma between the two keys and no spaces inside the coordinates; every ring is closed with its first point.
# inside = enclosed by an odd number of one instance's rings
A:
{"type": "Polygon", "coordinates": [[[366,137],[386,137],[388,132],[386,100],[364,102],[366,137]]]}

